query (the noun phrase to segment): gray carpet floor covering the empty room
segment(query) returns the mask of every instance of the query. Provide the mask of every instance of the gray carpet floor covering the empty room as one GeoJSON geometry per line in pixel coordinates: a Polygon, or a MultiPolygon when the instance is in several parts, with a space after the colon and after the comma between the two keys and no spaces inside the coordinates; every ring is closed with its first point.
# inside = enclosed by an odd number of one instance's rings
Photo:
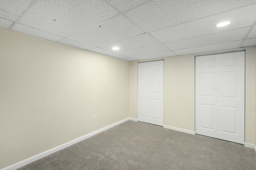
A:
{"type": "Polygon", "coordinates": [[[244,145],[126,121],[18,170],[256,170],[244,145]]]}

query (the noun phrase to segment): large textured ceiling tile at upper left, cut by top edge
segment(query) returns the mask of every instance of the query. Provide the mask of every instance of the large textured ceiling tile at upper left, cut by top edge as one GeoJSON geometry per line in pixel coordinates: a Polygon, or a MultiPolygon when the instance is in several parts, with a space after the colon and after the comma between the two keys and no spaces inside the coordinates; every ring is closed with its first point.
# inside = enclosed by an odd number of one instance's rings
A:
{"type": "Polygon", "coordinates": [[[20,23],[66,37],[117,14],[102,0],[39,0],[20,23]]]}

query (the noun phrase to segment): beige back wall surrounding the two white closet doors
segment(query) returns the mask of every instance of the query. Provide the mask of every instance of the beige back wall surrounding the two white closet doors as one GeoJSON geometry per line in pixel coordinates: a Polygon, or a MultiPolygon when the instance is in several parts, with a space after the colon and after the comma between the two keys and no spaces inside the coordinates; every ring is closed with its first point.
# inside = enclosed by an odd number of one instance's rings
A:
{"type": "MultiPolygon", "coordinates": [[[[256,51],[255,47],[246,49],[246,143],[255,143],[256,139],[256,51]]],[[[218,51],[223,52],[223,51],[218,51]]],[[[213,52],[211,52],[213,53],[213,52]]],[[[206,53],[201,53],[206,54],[206,53]]],[[[164,125],[190,131],[194,128],[194,70],[195,60],[192,55],[164,58],[164,125]]],[[[148,61],[148,60],[147,60],[148,61]]],[[[153,60],[151,60],[153,61],[153,60]]],[[[130,117],[137,118],[137,64],[130,63],[130,117]]]]}

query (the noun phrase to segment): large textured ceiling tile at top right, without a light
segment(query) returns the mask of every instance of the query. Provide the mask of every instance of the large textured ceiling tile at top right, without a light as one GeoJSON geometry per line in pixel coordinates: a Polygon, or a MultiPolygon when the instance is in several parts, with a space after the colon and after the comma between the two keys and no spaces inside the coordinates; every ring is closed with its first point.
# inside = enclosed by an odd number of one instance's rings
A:
{"type": "Polygon", "coordinates": [[[154,0],[125,13],[146,31],[218,14],[256,0],[154,0]]]}

